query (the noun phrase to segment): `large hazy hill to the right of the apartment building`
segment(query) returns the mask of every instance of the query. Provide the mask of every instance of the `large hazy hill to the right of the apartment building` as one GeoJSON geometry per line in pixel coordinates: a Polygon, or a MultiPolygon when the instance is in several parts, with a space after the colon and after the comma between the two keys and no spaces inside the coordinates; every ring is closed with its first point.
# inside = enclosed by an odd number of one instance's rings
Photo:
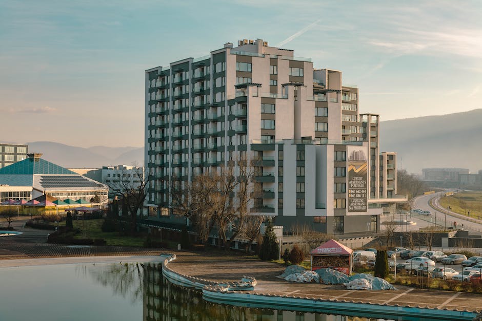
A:
{"type": "Polygon", "coordinates": [[[428,167],[482,169],[482,109],[380,123],[380,151],[397,152],[410,173],[428,167]]]}

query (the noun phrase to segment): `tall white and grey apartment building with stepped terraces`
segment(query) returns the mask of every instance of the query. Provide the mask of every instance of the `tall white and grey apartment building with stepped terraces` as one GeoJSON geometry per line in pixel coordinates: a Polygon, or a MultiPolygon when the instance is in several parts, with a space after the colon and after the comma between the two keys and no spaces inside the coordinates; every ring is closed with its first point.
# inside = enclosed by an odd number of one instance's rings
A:
{"type": "Polygon", "coordinates": [[[377,232],[396,195],[396,154],[379,151],[379,116],[359,114],[342,72],[268,42],[227,43],[146,70],[148,219],[173,223],[169,180],[258,159],[252,215],[336,234],[377,232]]]}

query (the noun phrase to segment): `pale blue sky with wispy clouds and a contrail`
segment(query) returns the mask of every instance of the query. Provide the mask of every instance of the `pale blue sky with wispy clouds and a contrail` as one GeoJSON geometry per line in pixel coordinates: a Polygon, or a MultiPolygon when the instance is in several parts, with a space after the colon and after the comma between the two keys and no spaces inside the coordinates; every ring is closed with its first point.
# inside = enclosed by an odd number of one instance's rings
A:
{"type": "Polygon", "coordinates": [[[257,38],[381,120],[482,108],[481,1],[2,0],[0,141],[143,146],[146,69],[257,38]]]}

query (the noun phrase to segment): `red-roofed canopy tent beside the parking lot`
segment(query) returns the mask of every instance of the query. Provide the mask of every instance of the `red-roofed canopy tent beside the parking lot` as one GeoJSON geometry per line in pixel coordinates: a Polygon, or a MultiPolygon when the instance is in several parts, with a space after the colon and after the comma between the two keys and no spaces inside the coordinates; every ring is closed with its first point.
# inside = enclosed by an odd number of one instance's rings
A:
{"type": "Polygon", "coordinates": [[[350,275],[353,268],[353,250],[331,239],[310,252],[311,270],[331,268],[350,275]]]}

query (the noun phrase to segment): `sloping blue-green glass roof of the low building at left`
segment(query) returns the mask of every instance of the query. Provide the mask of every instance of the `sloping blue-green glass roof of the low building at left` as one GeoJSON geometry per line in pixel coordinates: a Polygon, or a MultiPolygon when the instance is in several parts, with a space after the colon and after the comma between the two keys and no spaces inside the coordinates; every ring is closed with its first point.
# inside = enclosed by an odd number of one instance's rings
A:
{"type": "Polygon", "coordinates": [[[27,158],[23,161],[0,168],[0,174],[31,175],[31,174],[73,174],[71,170],[55,165],[42,158],[27,158]]]}

